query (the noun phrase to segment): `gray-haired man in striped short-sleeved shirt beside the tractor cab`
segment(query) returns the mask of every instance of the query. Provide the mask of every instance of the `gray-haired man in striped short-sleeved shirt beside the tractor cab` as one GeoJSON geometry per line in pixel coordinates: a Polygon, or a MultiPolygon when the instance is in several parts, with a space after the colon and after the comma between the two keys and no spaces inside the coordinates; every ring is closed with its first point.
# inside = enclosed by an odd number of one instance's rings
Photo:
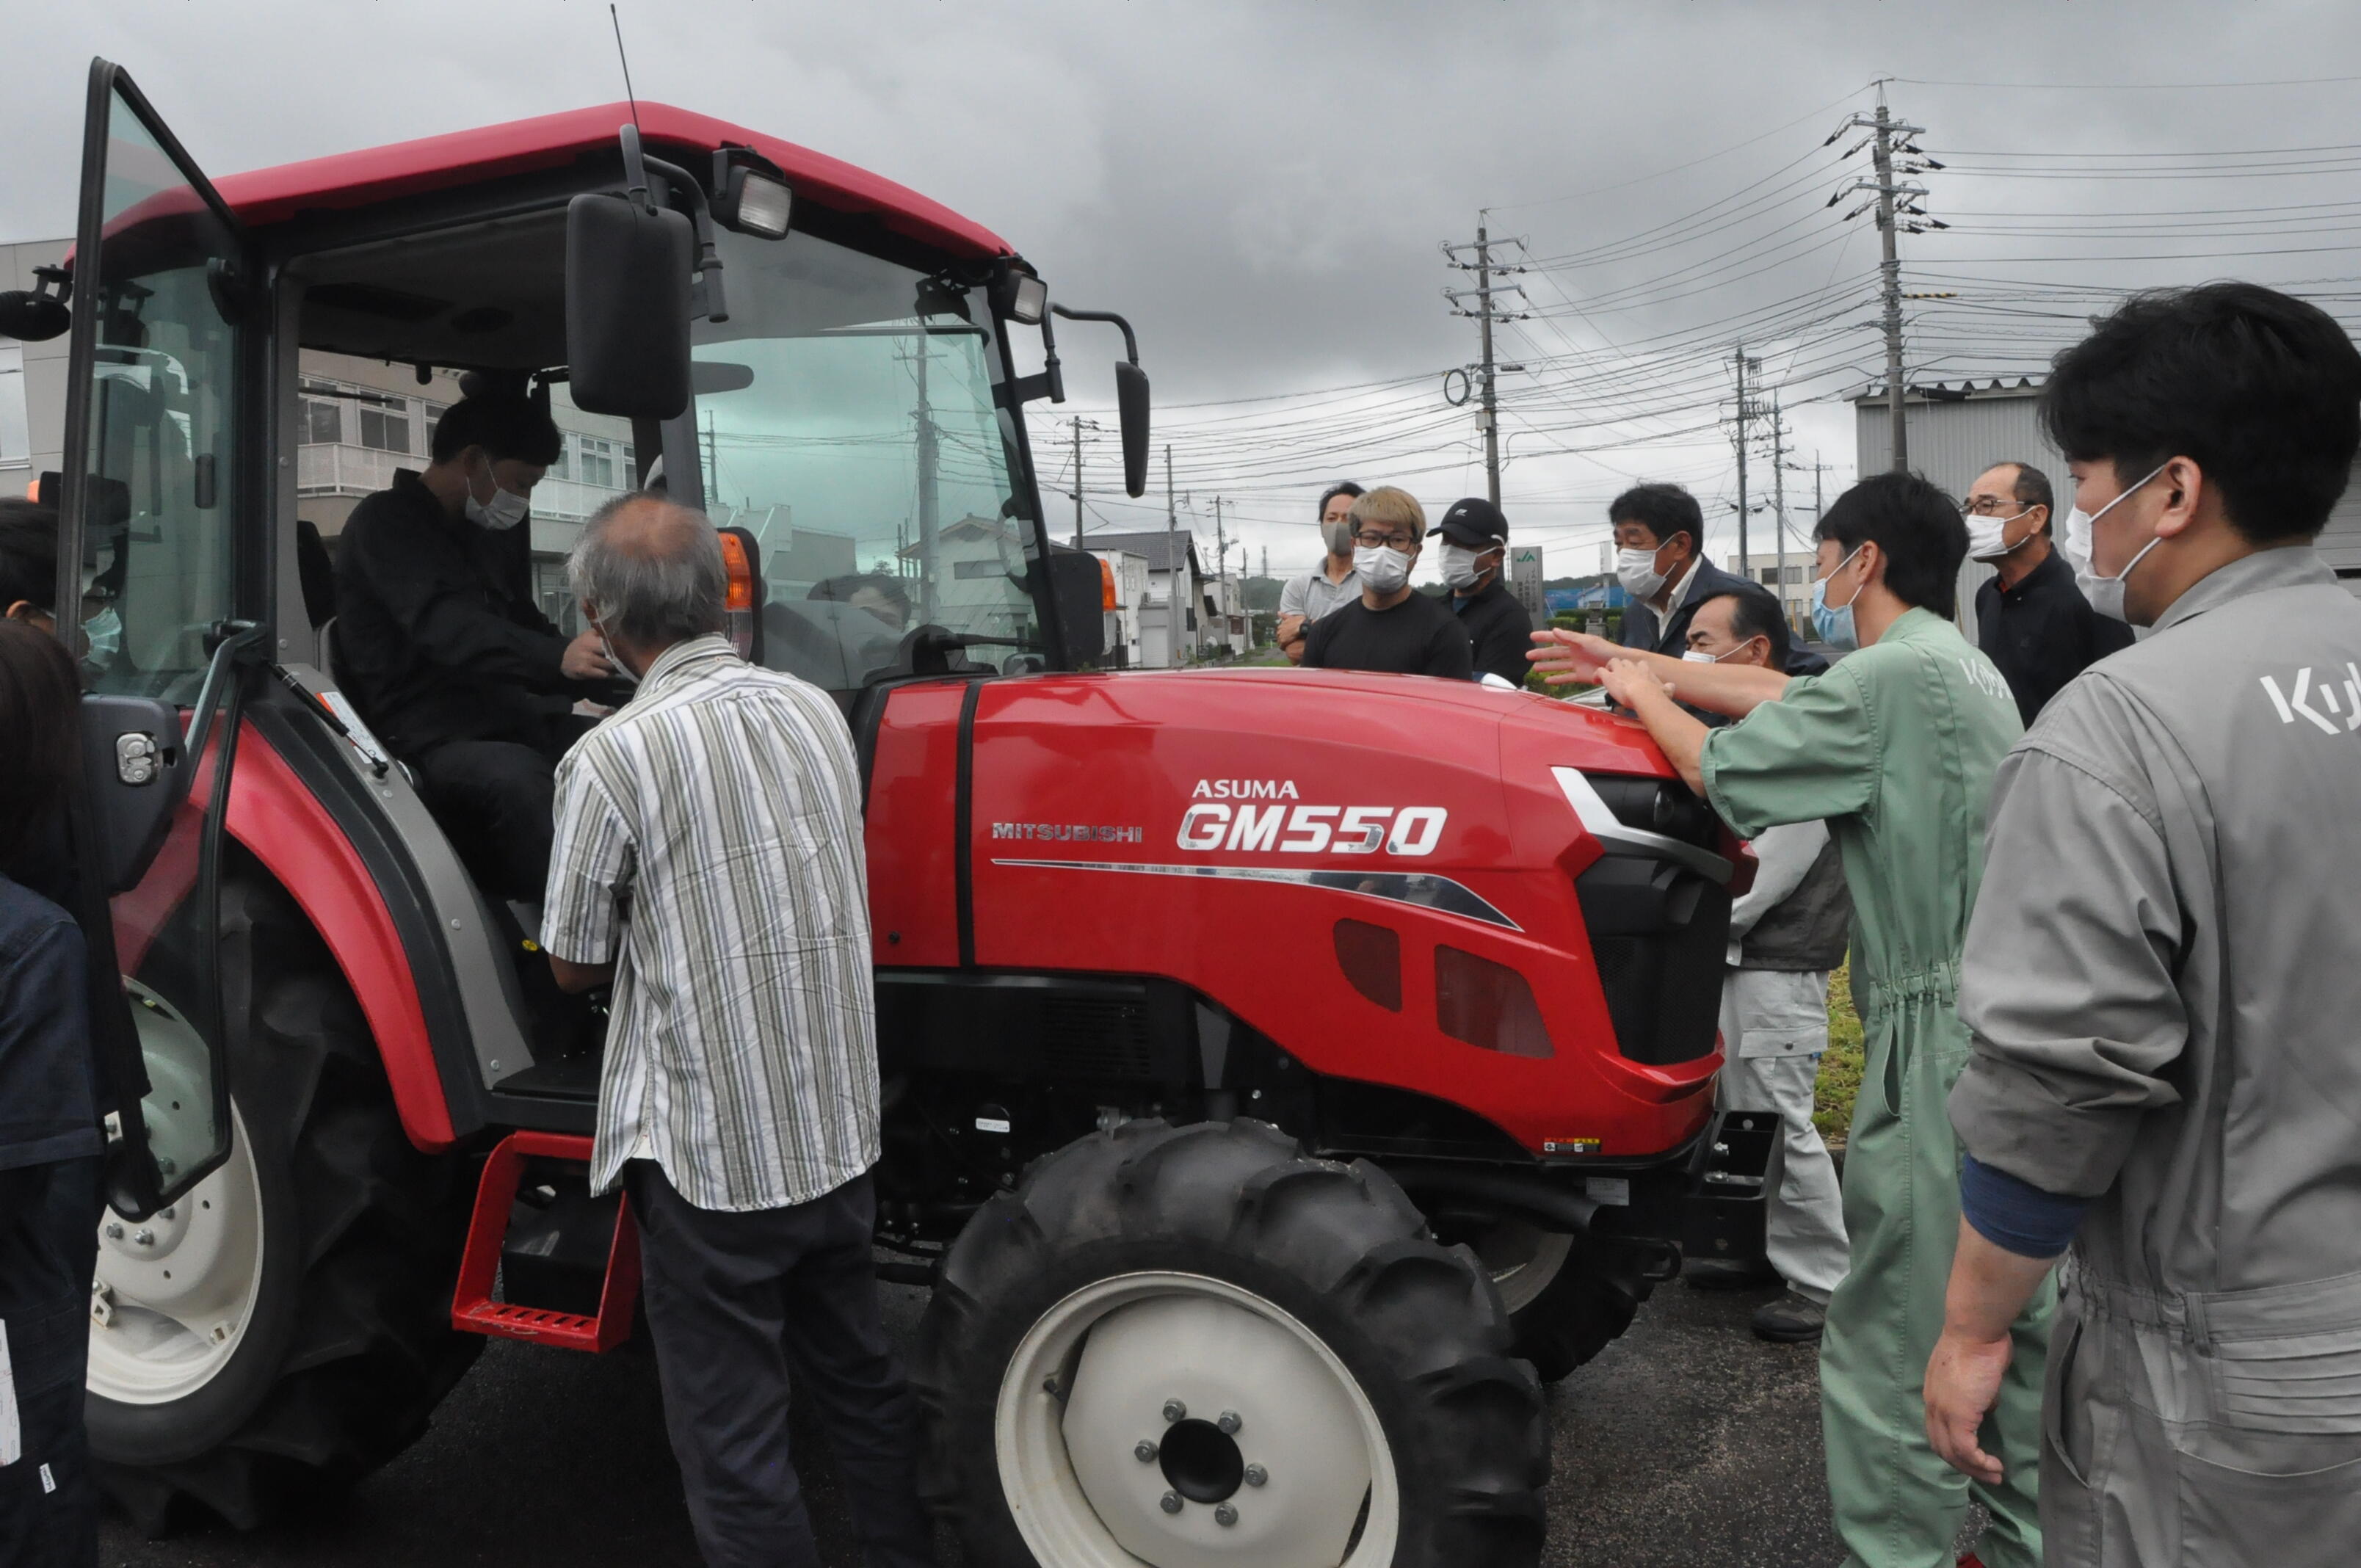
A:
{"type": "Polygon", "coordinates": [[[933,1563],[916,1405],[878,1318],[876,992],[852,739],[826,692],[720,638],[704,515],[626,496],[567,571],[640,682],[557,767],[541,942],[614,985],[590,1188],[642,1237],[663,1412],[706,1563],[819,1566],[789,1372],[869,1561],[933,1563]]]}

